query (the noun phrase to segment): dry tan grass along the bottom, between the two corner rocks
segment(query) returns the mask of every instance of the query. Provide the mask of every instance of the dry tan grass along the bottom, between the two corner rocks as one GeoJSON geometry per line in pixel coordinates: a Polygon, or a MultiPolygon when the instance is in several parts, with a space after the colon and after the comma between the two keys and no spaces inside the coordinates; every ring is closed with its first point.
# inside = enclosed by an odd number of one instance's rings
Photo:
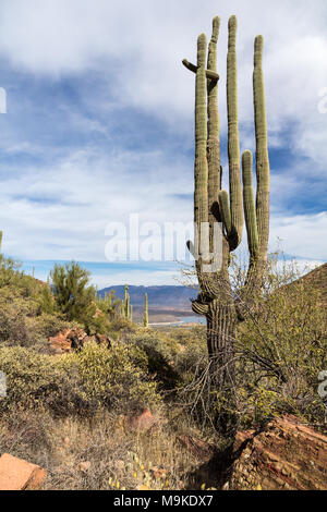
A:
{"type": "MultiPolygon", "coordinates": [[[[178,440],[201,436],[182,419],[165,419],[150,432],[129,432],[121,416],[53,418],[41,409],[12,411],[0,419],[0,454],[41,465],[48,471],[44,489],[184,489],[203,460],[178,440]]],[[[194,488],[201,487],[198,481],[194,488]]]]}

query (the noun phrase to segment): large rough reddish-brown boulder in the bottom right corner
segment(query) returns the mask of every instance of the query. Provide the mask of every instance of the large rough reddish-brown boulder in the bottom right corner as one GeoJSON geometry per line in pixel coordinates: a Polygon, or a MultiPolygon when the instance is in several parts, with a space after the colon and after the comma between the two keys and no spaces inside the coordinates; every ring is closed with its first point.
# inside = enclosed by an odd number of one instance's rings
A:
{"type": "Polygon", "coordinates": [[[327,437],[294,416],[238,432],[233,490],[327,490],[327,437]]]}

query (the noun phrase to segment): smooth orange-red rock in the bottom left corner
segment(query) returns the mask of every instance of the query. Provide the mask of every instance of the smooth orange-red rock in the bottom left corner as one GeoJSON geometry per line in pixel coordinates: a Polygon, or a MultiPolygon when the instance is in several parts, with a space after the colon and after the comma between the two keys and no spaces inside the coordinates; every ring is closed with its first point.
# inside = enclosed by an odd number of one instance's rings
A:
{"type": "Polygon", "coordinates": [[[0,458],[0,490],[39,489],[46,476],[46,470],[9,453],[0,458]]]}

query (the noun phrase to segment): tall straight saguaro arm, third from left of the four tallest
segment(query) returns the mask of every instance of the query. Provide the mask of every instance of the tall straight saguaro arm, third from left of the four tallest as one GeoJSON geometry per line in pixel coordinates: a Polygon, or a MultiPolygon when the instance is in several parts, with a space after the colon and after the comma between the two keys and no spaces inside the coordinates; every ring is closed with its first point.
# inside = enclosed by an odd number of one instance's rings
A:
{"type": "Polygon", "coordinates": [[[238,117],[238,65],[237,65],[237,28],[235,16],[229,19],[228,24],[228,56],[227,56],[227,111],[228,111],[228,158],[229,158],[229,187],[230,212],[235,240],[231,251],[234,251],[242,241],[243,207],[240,169],[240,138],[238,117]]]}

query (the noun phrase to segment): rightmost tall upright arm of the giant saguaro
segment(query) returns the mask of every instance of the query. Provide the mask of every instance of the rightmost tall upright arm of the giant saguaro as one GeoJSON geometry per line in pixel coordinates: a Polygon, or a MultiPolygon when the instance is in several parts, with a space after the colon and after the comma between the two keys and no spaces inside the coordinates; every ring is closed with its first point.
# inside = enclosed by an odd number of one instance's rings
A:
{"type": "Polygon", "coordinates": [[[253,96],[256,137],[256,216],[259,251],[267,258],[269,240],[269,157],[267,142],[267,117],[264,74],[262,69],[264,38],[257,36],[254,42],[253,96]]]}

